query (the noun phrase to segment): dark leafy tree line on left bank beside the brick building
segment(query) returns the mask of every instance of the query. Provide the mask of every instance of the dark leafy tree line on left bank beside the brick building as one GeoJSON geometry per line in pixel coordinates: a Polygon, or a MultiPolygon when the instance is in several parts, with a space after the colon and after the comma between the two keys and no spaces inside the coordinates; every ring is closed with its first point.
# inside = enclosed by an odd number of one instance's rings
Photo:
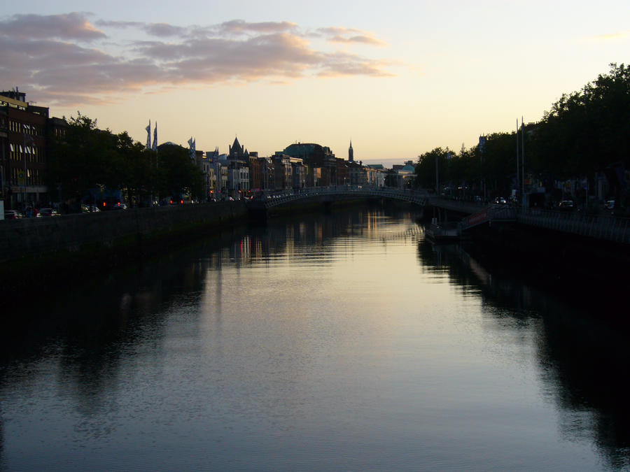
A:
{"type": "Polygon", "coordinates": [[[183,192],[202,198],[203,175],[186,148],[167,143],[148,150],[127,131],[98,129],[96,120],[80,113],[66,123],[62,136],[51,136],[46,180],[55,199],[84,201],[95,189],[119,190],[137,205],[183,192]]]}

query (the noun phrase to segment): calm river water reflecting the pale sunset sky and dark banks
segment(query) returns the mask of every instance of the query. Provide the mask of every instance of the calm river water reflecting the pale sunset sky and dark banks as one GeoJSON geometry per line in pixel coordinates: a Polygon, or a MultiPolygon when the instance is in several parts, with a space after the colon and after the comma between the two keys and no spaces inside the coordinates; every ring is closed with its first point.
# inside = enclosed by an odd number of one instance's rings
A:
{"type": "Polygon", "coordinates": [[[0,469],[628,470],[624,330],[408,210],[243,230],[11,308],[0,469]]]}

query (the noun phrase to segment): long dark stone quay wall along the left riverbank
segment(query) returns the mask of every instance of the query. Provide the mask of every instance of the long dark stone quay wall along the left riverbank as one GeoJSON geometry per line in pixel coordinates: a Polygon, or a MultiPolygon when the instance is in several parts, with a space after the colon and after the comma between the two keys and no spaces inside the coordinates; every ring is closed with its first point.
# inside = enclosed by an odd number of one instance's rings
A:
{"type": "Polygon", "coordinates": [[[244,201],[132,208],[0,224],[1,291],[105,271],[248,222],[244,201]]]}

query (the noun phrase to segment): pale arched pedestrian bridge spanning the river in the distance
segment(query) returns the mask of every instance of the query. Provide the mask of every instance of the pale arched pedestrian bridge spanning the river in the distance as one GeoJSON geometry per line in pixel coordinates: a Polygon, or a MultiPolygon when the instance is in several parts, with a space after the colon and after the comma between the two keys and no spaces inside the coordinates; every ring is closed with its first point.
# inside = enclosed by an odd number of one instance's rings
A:
{"type": "Polygon", "coordinates": [[[338,185],[334,187],[311,187],[300,190],[288,190],[286,192],[263,194],[258,200],[269,209],[287,203],[297,201],[335,201],[338,199],[353,198],[378,198],[394,199],[416,203],[424,206],[426,203],[426,193],[410,189],[374,188],[361,185],[338,185]]]}

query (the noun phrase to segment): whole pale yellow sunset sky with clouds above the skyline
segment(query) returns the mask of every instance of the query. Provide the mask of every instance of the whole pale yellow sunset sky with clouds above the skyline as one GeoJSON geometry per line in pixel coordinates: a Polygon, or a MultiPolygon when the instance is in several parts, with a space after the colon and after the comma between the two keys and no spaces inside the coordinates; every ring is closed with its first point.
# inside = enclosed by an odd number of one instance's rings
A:
{"type": "Polygon", "coordinates": [[[3,2],[0,88],[146,141],[386,165],[540,120],[630,62],[630,2],[3,2]]]}

